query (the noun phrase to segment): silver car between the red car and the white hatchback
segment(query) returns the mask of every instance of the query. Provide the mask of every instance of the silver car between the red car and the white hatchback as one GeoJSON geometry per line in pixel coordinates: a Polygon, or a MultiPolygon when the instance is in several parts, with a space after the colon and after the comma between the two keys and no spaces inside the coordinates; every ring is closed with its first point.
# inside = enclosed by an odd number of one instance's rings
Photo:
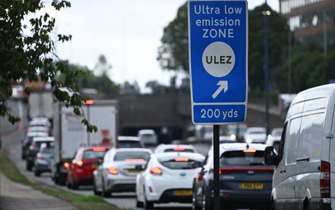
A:
{"type": "Polygon", "coordinates": [[[93,172],[94,195],[111,197],[112,193],[135,192],[136,175],[149,160],[149,148],[113,148],[93,172]],[[137,167],[136,167],[137,166],[137,167]]]}

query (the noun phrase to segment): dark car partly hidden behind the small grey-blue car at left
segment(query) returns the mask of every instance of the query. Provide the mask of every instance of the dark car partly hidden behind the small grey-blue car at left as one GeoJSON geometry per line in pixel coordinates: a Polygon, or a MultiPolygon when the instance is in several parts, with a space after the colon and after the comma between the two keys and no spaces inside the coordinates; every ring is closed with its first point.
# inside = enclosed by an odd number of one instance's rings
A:
{"type": "Polygon", "coordinates": [[[52,144],[54,142],[54,137],[33,137],[31,141],[31,146],[29,146],[26,153],[26,169],[31,171],[34,167],[36,154],[38,153],[41,144],[52,144]]]}

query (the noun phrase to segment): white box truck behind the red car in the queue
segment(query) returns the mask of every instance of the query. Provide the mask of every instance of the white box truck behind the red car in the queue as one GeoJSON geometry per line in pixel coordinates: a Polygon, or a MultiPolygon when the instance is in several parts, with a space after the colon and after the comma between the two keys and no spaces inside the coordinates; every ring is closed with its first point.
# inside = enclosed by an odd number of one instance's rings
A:
{"type": "Polygon", "coordinates": [[[80,146],[109,144],[115,146],[117,138],[117,101],[90,100],[83,104],[80,115],[73,113],[72,107],[57,102],[54,107],[53,135],[55,137],[55,153],[51,163],[51,178],[64,185],[66,166],[73,159],[76,149],[80,146]],[[86,118],[97,126],[97,132],[87,132],[82,120],[86,118]]]}

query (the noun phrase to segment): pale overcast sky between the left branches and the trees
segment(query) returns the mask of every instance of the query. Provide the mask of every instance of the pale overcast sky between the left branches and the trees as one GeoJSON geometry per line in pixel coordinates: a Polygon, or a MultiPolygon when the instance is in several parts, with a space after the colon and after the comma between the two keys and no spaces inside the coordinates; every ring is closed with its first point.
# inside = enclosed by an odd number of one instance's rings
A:
{"type": "MultiPolygon", "coordinates": [[[[116,83],[136,80],[144,90],[149,80],[169,84],[170,73],[157,62],[163,29],[176,18],[185,0],[76,0],[71,8],[53,13],[57,34],[71,34],[72,41],[57,44],[57,55],[72,64],[94,69],[104,55],[116,83]]],[[[248,1],[249,10],[264,1],[248,1]]],[[[268,0],[279,10],[278,0],[268,0]]]]}

